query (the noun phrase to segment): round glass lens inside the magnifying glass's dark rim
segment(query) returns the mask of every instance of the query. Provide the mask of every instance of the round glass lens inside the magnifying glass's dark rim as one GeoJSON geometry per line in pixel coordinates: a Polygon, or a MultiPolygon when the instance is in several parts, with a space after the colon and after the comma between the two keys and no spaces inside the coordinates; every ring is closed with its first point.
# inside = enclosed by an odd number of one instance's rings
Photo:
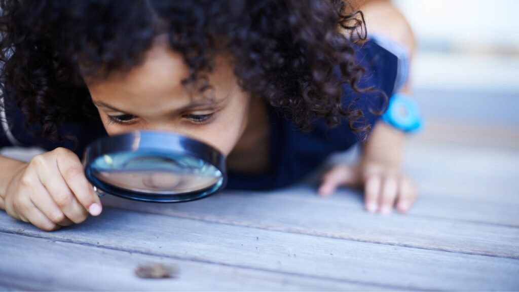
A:
{"type": "Polygon", "coordinates": [[[216,167],[186,155],[143,155],[134,152],[104,155],[94,162],[93,175],[115,187],[175,194],[210,188],[222,179],[216,167]]]}

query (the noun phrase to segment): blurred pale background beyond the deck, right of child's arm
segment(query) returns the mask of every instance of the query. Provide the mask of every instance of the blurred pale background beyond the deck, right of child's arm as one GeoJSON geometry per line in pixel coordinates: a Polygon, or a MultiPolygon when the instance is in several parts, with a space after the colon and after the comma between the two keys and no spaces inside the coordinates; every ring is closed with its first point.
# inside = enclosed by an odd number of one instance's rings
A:
{"type": "Polygon", "coordinates": [[[419,139],[519,149],[519,1],[393,4],[418,43],[412,84],[427,122],[419,139]]]}

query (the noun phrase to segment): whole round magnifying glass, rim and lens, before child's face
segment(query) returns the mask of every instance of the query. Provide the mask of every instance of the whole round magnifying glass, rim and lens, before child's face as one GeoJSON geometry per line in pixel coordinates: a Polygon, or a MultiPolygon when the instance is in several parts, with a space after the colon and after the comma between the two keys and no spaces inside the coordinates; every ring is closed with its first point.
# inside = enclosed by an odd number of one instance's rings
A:
{"type": "Polygon", "coordinates": [[[94,191],[130,200],[180,203],[225,187],[222,153],[203,142],[159,131],[133,131],[93,141],[85,175],[94,191]]]}

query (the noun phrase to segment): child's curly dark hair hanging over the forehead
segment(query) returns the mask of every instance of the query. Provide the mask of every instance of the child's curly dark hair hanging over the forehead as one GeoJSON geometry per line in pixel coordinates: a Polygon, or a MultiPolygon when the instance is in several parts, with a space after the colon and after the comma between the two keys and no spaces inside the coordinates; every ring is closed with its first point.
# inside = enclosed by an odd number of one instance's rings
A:
{"type": "Polygon", "coordinates": [[[189,68],[187,87],[211,88],[204,72],[226,51],[239,85],[300,129],[317,118],[371,129],[358,123],[355,98],[343,107],[342,85],[362,91],[354,46],[366,30],[362,12],[341,0],[2,0],[1,8],[4,98],[16,100],[26,127],[39,125],[52,140],[70,138],[58,134],[63,122],[94,113],[85,74],[139,65],[163,33],[189,68]]]}

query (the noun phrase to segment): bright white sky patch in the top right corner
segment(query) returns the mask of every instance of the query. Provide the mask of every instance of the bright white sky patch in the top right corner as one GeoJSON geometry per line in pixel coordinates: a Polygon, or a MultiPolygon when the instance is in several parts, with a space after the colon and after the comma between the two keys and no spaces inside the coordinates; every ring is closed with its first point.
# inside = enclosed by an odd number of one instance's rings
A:
{"type": "Polygon", "coordinates": [[[394,0],[422,45],[514,47],[519,51],[518,0],[394,0]]]}

